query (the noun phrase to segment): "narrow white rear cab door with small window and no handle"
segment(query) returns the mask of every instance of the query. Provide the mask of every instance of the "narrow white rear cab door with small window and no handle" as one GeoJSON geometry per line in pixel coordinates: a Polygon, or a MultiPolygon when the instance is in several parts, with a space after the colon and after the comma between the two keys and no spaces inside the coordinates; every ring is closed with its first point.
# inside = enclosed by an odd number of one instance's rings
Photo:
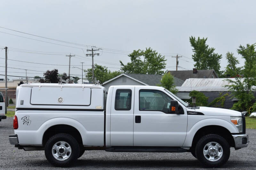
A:
{"type": "Polygon", "coordinates": [[[134,87],[114,87],[110,115],[110,145],[133,146],[134,87]]]}

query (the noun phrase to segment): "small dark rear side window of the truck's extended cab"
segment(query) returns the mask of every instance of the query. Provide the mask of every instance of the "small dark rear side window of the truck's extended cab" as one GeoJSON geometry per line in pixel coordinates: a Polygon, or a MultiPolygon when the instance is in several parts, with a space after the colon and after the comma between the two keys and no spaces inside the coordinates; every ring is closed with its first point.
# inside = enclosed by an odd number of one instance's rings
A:
{"type": "Polygon", "coordinates": [[[131,110],[132,90],[117,89],[115,99],[115,110],[131,110]]]}

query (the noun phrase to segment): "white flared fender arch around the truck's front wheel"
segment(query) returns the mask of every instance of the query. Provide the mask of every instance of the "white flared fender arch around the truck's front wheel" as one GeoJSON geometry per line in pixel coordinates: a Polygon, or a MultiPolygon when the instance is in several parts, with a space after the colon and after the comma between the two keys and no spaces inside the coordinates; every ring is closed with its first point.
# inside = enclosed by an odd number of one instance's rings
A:
{"type": "Polygon", "coordinates": [[[182,145],[183,147],[191,147],[192,146],[192,141],[193,138],[196,134],[196,132],[201,129],[204,126],[209,126],[209,125],[217,125],[217,126],[222,126],[226,128],[230,133],[238,133],[238,130],[234,124],[231,124],[231,122],[228,122],[227,120],[223,120],[220,118],[206,118],[203,120],[200,120],[194,124],[189,131],[187,131],[187,136],[185,139],[184,144],[182,145]]]}

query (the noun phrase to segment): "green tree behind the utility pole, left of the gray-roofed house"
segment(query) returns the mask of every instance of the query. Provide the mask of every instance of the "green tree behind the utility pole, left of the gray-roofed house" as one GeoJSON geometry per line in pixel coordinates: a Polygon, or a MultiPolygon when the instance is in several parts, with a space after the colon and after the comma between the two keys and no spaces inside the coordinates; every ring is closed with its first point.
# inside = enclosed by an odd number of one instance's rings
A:
{"type": "MultiPolygon", "coordinates": [[[[89,68],[84,72],[86,72],[86,78],[88,80],[92,80],[92,68],[89,68]]],[[[94,65],[94,77],[96,77],[96,79],[99,80],[100,83],[108,81],[109,79],[112,79],[119,74],[121,74],[120,71],[111,72],[106,66],[100,66],[98,64],[94,65]]]]}

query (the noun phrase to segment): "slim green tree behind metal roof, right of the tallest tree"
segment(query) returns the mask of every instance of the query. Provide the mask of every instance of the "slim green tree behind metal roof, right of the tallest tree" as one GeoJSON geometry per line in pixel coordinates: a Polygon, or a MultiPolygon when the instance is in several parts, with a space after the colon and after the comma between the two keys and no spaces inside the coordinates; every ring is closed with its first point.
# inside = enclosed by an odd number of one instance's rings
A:
{"type": "Polygon", "coordinates": [[[239,64],[239,61],[234,56],[234,53],[228,52],[226,54],[226,59],[228,60],[228,65],[225,70],[226,77],[237,77],[237,75],[241,74],[242,67],[236,67],[239,64]]]}

